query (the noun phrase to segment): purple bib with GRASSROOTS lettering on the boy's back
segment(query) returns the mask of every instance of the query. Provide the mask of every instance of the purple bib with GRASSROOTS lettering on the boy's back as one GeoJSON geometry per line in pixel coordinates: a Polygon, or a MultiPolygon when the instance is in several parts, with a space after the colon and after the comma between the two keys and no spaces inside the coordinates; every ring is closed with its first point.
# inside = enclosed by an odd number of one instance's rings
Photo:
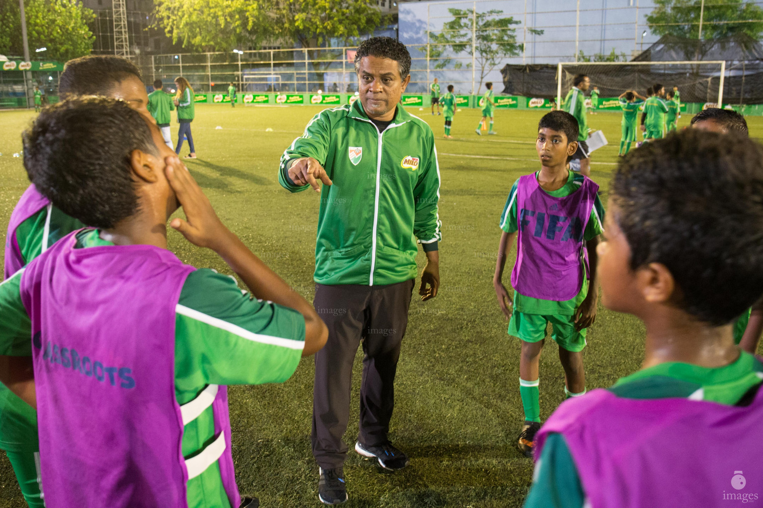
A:
{"type": "Polygon", "coordinates": [[[47,506],[185,508],[214,462],[238,506],[225,387],[175,398],[175,306],[195,269],[150,245],[75,248],[77,233],[21,276],[47,506]],[[217,437],[184,460],[183,424],[209,405],[217,437]]]}

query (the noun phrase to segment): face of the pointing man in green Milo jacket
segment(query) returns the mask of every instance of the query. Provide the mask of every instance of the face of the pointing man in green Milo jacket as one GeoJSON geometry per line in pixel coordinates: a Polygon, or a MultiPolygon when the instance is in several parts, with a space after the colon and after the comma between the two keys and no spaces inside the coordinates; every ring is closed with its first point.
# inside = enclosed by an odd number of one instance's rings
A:
{"type": "Polygon", "coordinates": [[[360,102],[372,118],[384,117],[394,111],[410,81],[410,75],[400,78],[398,62],[378,56],[364,56],[358,69],[360,102]]]}

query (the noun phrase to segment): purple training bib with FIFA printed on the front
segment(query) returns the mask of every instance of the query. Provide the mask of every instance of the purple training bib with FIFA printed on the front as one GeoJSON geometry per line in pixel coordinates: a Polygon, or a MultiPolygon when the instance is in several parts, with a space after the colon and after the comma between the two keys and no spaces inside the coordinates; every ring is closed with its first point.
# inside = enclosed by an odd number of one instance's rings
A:
{"type": "Polygon", "coordinates": [[[584,177],[578,190],[549,196],[535,174],[517,184],[517,263],[511,286],[524,296],[564,302],[583,286],[583,235],[599,186],[584,177]]]}

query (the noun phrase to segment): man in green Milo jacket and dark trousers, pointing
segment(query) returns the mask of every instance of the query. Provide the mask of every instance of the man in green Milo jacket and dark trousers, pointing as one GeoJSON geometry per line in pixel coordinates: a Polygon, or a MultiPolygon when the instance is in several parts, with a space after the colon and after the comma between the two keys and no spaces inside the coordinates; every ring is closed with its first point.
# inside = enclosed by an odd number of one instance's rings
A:
{"type": "Polygon", "coordinates": [[[417,275],[417,243],[428,260],[419,294],[427,300],[439,288],[434,135],[398,104],[410,81],[410,54],[390,37],[373,37],[359,46],[355,65],[359,101],[317,114],[286,149],[278,172],[278,181],[291,192],[320,191],[314,304],[329,340],[315,359],[312,447],[320,465],[318,493],[327,504],[347,499],[348,448],[342,436],[361,340],[356,452],[388,470],[407,465],[407,456],[387,434],[417,275]]]}

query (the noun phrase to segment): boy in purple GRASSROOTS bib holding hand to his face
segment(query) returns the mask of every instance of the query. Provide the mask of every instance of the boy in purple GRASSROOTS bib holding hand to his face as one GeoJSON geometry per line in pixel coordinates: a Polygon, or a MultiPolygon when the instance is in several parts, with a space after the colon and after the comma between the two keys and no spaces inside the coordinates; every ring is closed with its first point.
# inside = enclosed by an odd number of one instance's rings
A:
{"type": "Polygon", "coordinates": [[[156,125],[124,101],[73,99],[24,135],[53,205],[93,225],[0,286],[2,366],[28,363],[49,508],[253,506],[233,473],[227,389],[283,382],[327,329],[217,218],[156,125]],[[252,291],[166,250],[166,221],[252,291]]]}

